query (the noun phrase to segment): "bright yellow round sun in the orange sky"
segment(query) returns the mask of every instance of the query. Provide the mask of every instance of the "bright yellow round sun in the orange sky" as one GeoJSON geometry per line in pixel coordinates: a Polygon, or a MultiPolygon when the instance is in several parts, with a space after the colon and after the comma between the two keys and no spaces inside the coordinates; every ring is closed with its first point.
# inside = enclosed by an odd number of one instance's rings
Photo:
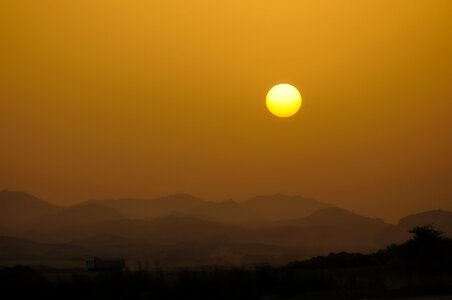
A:
{"type": "Polygon", "coordinates": [[[300,107],[301,95],[293,85],[281,83],[272,87],[267,93],[267,108],[277,117],[291,117],[300,107]]]}

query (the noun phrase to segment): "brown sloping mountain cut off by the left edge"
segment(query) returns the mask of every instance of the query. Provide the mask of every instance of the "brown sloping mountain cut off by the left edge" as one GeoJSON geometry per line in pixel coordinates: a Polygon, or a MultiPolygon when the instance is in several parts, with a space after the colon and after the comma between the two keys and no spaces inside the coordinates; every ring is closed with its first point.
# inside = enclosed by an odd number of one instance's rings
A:
{"type": "Polygon", "coordinates": [[[24,192],[0,192],[0,227],[6,229],[59,210],[60,207],[24,192]]]}

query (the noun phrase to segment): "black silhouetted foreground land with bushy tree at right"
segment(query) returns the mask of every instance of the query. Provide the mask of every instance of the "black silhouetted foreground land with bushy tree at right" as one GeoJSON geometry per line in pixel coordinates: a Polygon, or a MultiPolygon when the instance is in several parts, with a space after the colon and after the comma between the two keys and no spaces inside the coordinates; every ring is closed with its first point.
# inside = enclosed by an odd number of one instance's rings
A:
{"type": "Polygon", "coordinates": [[[284,267],[86,272],[0,270],[6,295],[28,299],[364,299],[452,294],[452,240],[431,226],[372,254],[331,253],[284,267]]]}

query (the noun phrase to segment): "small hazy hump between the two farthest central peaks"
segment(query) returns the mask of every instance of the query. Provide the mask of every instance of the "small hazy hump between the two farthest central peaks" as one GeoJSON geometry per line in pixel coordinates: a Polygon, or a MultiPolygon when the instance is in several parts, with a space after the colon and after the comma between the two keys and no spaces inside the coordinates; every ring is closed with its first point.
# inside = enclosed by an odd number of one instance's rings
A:
{"type": "Polygon", "coordinates": [[[259,225],[266,222],[254,210],[232,200],[205,202],[191,209],[188,214],[224,224],[259,225]]]}

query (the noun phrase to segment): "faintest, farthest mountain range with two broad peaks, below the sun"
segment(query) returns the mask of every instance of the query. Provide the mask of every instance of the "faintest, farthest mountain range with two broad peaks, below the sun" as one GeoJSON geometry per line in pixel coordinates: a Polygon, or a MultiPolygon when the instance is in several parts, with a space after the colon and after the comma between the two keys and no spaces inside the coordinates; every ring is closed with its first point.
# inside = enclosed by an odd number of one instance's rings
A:
{"type": "Polygon", "coordinates": [[[209,202],[187,194],[155,199],[90,200],[87,203],[111,207],[132,219],[155,219],[179,212],[216,222],[243,225],[300,218],[330,207],[313,199],[281,194],[254,197],[242,203],[232,200],[209,202]]]}

